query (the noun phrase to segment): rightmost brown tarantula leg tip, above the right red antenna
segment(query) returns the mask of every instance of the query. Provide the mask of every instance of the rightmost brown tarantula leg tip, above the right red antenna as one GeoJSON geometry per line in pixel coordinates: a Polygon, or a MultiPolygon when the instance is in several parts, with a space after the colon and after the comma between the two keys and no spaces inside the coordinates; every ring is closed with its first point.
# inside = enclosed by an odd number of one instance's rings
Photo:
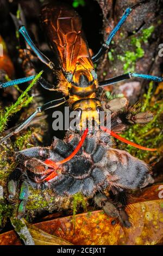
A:
{"type": "Polygon", "coordinates": [[[151,112],[140,112],[137,114],[128,114],[127,120],[131,124],[146,124],[153,119],[153,114],[151,112]]]}

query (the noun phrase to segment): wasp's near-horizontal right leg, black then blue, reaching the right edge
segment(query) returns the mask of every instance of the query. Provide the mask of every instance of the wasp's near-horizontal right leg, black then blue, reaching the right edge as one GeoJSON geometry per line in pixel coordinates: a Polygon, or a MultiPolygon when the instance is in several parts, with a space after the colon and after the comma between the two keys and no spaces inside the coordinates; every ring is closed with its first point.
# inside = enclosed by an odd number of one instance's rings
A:
{"type": "Polygon", "coordinates": [[[110,86],[111,84],[122,82],[124,80],[131,79],[133,77],[142,78],[142,79],[146,79],[146,80],[150,80],[150,81],[154,81],[154,82],[162,82],[163,81],[163,77],[128,72],[127,74],[123,74],[121,76],[116,76],[116,77],[110,78],[108,80],[99,82],[99,87],[110,86]]]}

